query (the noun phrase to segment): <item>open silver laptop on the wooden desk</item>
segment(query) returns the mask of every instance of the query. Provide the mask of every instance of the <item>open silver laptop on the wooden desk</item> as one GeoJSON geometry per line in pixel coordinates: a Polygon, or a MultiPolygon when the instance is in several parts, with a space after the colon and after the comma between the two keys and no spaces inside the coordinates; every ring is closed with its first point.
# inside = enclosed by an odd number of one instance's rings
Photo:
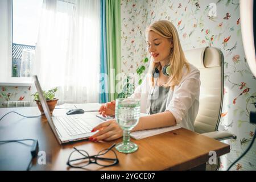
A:
{"type": "Polygon", "coordinates": [[[97,131],[91,131],[93,127],[103,122],[103,119],[96,117],[93,113],[85,112],[84,114],[61,115],[56,117],[51,116],[49,107],[46,103],[46,98],[43,96],[43,91],[38,81],[38,77],[32,76],[32,78],[35,82],[44,114],[46,115],[47,121],[60,144],[88,139],[97,133],[97,131]]]}

